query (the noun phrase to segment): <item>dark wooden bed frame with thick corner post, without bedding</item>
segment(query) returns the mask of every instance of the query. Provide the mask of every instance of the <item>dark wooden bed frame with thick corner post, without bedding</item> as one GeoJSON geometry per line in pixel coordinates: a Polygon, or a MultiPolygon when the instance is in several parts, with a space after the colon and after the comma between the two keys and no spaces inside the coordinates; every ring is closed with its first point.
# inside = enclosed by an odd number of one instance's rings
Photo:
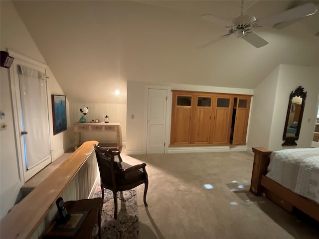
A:
{"type": "Polygon", "coordinates": [[[253,152],[255,156],[249,191],[256,196],[265,193],[267,198],[288,212],[292,213],[295,207],[319,222],[319,204],[294,193],[265,176],[272,151],[266,148],[253,148],[253,152]]]}

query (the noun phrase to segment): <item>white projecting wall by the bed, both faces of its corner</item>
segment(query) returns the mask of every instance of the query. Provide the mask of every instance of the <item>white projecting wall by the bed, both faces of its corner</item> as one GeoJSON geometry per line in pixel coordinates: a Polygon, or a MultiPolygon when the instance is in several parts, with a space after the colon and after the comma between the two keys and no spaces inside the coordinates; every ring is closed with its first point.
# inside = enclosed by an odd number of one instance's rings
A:
{"type": "Polygon", "coordinates": [[[269,150],[311,147],[319,95],[319,68],[279,65],[254,91],[247,148],[269,150]],[[289,96],[299,86],[307,91],[297,146],[282,146],[289,96]]]}

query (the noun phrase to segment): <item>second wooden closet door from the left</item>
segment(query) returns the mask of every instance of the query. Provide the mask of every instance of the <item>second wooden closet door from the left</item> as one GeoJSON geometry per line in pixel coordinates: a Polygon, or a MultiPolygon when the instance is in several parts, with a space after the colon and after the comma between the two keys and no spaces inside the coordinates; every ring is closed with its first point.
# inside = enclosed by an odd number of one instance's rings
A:
{"type": "Polygon", "coordinates": [[[194,118],[191,125],[191,144],[208,144],[212,109],[212,97],[196,96],[194,98],[194,118]]]}

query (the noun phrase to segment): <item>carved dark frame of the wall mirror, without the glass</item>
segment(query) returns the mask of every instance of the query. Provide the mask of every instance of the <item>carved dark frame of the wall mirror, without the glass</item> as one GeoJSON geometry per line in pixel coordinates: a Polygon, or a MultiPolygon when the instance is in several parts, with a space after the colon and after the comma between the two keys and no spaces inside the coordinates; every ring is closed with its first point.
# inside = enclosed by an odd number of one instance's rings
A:
{"type": "Polygon", "coordinates": [[[304,109],[305,109],[305,103],[306,103],[306,98],[307,98],[307,92],[304,92],[304,89],[302,86],[298,87],[295,92],[291,92],[290,97],[289,97],[289,104],[288,104],[288,109],[287,109],[287,116],[286,116],[286,122],[285,122],[285,128],[284,128],[284,135],[283,135],[283,142],[282,146],[290,146],[290,145],[297,145],[295,140],[299,139],[299,133],[300,133],[300,128],[301,128],[301,122],[303,120],[303,115],[304,115],[304,109]],[[298,127],[297,131],[295,133],[295,137],[293,136],[286,136],[287,135],[287,127],[288,127],[288,121],[289,121],[289,115],[290,115],[290,109],[292,105],[292,101],[294,97],[301,97],[303,99],[302,104],[301,104],[301,109],[299,113],[299,119],[298,119],[298,127]]]}

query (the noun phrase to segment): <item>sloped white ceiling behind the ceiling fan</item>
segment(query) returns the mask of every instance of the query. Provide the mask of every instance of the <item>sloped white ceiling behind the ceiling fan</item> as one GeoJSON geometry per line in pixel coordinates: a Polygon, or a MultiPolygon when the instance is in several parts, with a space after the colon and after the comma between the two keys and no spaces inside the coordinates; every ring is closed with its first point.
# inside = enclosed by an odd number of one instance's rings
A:
{"type": "MultiPolygon", "coordinates": [[[[244,13],[261,19],[301,2],[245,1],[244,13]]],[[[231,20],[240,0],[13,4],[70,101],[126,103],[128,80],[254,89],[281,63],[319,67],[319,13],[282,30],[255,28],[269,42],[262,48],[230,36],[199,49],[227,33],[200,15],[231,20]]]]}

